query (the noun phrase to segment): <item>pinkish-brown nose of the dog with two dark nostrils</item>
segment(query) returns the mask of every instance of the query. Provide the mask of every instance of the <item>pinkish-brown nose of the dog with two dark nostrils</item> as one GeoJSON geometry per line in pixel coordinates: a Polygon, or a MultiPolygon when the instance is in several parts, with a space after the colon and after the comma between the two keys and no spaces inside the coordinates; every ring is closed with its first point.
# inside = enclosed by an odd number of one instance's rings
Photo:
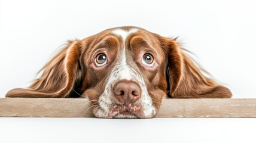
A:
{"type": "Polygon", "coordinates": [[[141,98],[141,88],[139,85],[130,80],[118,82],[113,88],[115,98],[126,105],[137,101],[141,98]]]}

